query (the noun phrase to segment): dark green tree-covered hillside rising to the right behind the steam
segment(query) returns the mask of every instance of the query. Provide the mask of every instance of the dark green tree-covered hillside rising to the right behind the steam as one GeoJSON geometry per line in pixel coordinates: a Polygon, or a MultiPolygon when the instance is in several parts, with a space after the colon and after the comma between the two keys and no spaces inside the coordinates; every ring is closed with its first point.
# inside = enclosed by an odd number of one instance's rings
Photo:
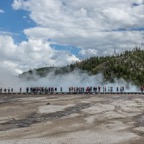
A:
{"type": "Polygon", "coordinates": [[[91,57],[65,67],[39,68],[23,73],[21,77],[34,78],[34,74],[44,77],[50,72],[58,75],[72,72],[75,69],[87,71],[90,75],[103,73],[104,79],[110,82],[113,82],[114,78],[123,78],[127,82],[143,85],[144,50],[135,48],[133,51],[125,51],[116,56],[91,57]]]}

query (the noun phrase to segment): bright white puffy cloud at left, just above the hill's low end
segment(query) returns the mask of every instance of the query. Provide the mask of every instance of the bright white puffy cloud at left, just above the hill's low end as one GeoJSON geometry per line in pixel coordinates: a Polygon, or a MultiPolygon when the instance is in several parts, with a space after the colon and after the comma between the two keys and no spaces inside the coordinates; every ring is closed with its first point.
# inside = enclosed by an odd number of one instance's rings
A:
{"type": "Polygon", "coordinates": [[[15,44],[11,36],[0,36],[0,65],[18,73],[42,66],[64,66],[79,61],[74,55],[51,48],[44,40],[29,39],[15,44]]]}

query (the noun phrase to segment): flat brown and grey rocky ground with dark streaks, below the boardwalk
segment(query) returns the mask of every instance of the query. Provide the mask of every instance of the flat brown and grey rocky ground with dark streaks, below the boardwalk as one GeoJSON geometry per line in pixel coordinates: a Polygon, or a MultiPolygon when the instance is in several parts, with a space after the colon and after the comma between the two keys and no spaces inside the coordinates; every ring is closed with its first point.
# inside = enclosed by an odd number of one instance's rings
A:
{"type": "Polygon", "coordinates": [[[0,94],[0,144],[143,144],[144,95],[0,94]]]}

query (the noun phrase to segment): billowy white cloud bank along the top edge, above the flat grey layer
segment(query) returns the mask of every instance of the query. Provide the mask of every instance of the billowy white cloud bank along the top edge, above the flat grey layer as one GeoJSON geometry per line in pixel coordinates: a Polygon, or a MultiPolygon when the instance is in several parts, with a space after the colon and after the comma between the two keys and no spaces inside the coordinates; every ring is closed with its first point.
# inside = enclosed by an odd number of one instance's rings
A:
{"type": "Polygon", "coordinates": [[[139,23],[143,19],[144,6],[132,8],[132,3],[134,0],[15,0],[13,7],[30,11],[31,19],[40,26],[100,31],[139,23]]]}

